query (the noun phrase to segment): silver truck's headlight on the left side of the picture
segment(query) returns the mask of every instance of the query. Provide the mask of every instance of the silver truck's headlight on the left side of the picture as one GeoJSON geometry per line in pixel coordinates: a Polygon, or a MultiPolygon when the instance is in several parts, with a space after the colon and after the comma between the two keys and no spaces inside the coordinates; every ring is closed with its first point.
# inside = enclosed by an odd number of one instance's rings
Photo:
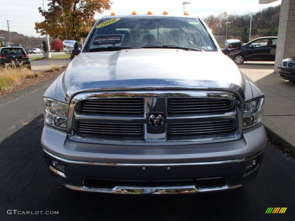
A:
{"type": "Polygon", "coordinates": [[[69,105],[50,98],[43,98],[44,121],[50,126],[65,130],[69,105]]]}

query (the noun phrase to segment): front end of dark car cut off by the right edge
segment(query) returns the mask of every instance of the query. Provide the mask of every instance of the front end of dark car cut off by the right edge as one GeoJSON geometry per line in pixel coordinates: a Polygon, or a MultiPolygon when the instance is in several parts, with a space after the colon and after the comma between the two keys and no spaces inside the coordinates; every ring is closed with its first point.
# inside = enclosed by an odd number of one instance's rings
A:
{"type": "Polygon", "coordinates": [[[278,76],[285,80],[295,80],[295,56],[282,60],[278,65],[278,76]]]}

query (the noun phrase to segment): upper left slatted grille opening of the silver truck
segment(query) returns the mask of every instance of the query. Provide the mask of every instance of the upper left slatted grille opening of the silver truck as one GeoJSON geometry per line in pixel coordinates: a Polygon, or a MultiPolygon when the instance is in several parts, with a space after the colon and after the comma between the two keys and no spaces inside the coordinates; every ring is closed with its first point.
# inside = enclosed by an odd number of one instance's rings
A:
{"type": "Polygon", "coordinates": [[[104,116],[143,116],[143,98],[112,98],[82,100],[76,105],[76,112],[104,116]]]}

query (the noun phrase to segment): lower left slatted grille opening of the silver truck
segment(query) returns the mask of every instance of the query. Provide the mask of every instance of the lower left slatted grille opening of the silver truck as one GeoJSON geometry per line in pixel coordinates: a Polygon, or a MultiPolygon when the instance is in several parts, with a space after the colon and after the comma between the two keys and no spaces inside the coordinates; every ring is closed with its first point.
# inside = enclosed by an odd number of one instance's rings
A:
{"type": "Polygon", "coordinates": [[[73,131],[77,135],[112,137],[112,139],[143,139],[143,124],[108,124],[73,121],[73,131]]]}

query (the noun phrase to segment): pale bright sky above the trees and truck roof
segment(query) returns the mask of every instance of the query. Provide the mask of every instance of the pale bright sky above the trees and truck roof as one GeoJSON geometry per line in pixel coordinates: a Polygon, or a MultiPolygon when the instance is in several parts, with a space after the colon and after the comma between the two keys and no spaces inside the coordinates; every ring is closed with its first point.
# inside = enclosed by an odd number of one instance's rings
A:
{"type": "MultiPolygon", "coordinates": [[[[110,11],[105,11],[103,15],[109,15],[112,11],[118,14],[131,14],[137,11],[137,14],[146,14],[152,11],[153,14],[162,14],[168,11],[169,14],[183,14],[183,0],[111,0],[110,11]]],[[[201,18],[210,14],[221,14],[226,11],[228,14],[245,14],[257,12],[261,9],[277,6],[281,0],[270,4],[258,4],[258,0],[187,0],[191,4],[185,5],[185,11],[190,15],[201,18]]],[[[9,29],[11,32],[18,32],[27,36],[40,37],[34,27],[35,22],[42,22],[42,16],[38,12],[38,7],[43,7],[42,0],[0,0],[0,30],[8,30],[7,20],[9,20],[9,29]]],[[[44,0],[45,10],[47,9],[47,0],[44,0]]],[[[101,15],[97,14],[96,19],[101,15]]]]}

